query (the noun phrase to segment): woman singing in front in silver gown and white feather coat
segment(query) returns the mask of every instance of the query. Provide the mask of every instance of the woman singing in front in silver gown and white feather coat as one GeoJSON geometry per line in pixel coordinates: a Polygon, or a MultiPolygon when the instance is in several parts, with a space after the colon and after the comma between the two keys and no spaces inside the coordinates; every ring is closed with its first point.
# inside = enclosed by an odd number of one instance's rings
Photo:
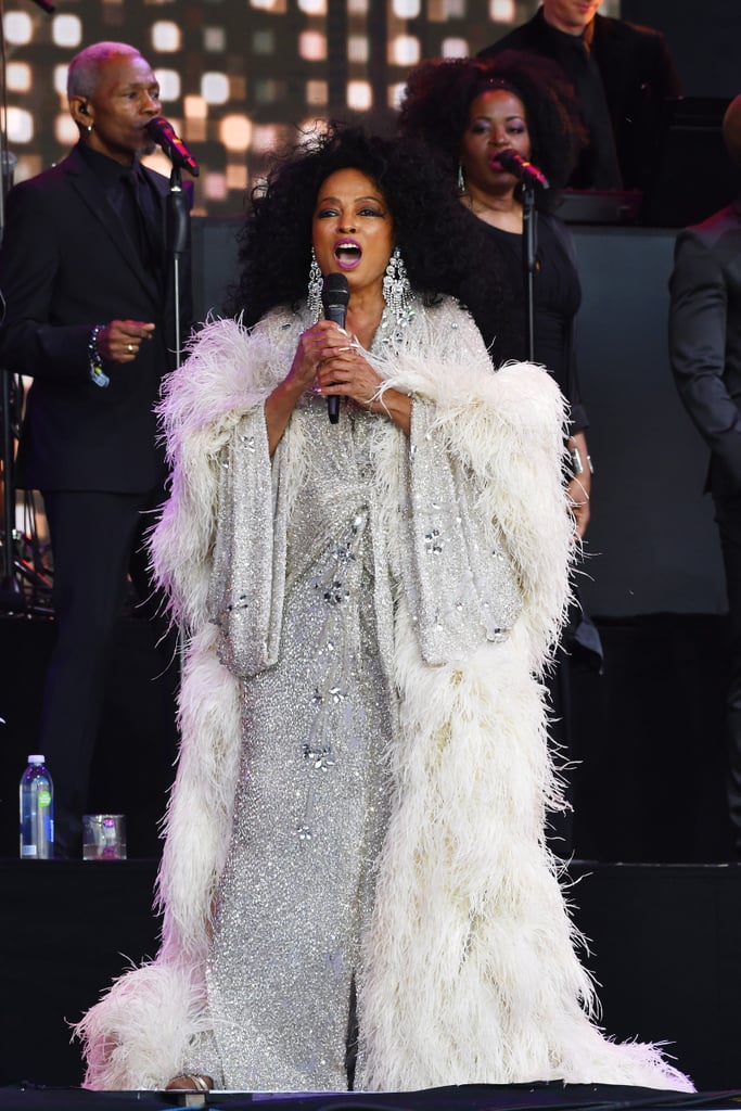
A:
{"type": "Polygon", "coordinates": [[[253,197],[236,319],[170,378],[163,943],[83,1020],[89,1087],[688,1083],[590,1018],[543,842],[562,402],[434,296],[445,196],[410,144],[304,142],[253,197]]]}

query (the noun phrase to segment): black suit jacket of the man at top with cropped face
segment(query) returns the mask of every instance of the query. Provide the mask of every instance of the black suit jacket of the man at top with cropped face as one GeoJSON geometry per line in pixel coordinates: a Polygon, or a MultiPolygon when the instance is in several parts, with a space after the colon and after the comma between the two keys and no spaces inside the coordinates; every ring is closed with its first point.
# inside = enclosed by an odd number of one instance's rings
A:
{"type": "MultiPolygon", "coordinates": [[[[503,50],[522,50],[562,64],[559,37],[545,22],[542,8],[479,57],[503,50]]],[[[655,168],[657,141],[663,134],[665,102],[680,92],[669,49],[663,36],[651,28],[598,14],[592,52],[602,76],[623,183],[627,189],[645,189],[655,168]]]]}

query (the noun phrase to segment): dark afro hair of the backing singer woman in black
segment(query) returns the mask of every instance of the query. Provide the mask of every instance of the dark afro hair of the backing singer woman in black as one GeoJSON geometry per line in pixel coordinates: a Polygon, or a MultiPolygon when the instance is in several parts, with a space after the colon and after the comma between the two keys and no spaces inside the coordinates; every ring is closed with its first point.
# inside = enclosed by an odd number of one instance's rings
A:
{"type": "MultiPolygon", "coordinates": [[[[422,62],[408,78],[399,127],[421,139],[458,172],[459,152],[471,103],[492,83],[504,82],[525,109],[531,161],[552,189],[569,180],[587,134],[573,90],[550,59],[507,50],[494,58],[437,58],[422,62]]],[[[539,192],[537,202],[547,202],[539,192]]]]}

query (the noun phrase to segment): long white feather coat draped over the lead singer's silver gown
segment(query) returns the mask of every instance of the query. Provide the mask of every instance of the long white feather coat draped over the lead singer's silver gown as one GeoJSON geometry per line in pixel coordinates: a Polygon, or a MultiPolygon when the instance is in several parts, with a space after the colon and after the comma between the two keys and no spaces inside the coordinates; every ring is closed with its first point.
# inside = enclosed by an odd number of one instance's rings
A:
{"type": "MultiPolygon", "coordinates": [[[[241,749],[240,684],[219,662],[221,631],[211,623],[220,459],[243,416],[283,379],[303,327],[286,312],[251,334],[234,321],[211,322],[162,404],[173,481],[153,562],[190,638],[158,881],[163,939],[157,960],[126,973],[80,1023],[90,1088],[163,1087],[189,1068],[211,1027],[204,964],[241,749]]],[[[617,1045],[593,1024],[590,978],[544,845],[545,808],[559,800],[537,675],[564,613],[572,546],[561,398],[540,368],[492,373],[470,318],[450,301],[418,306],[401,349],[372,358],[387,386],[414,397],[412,424],[424,413],[424,436],[471,476],[474,511],[484,532],[497,524],[522,613],[505,645],[479,638],[463,658],[455,651],[432,665],[429,653],[444,644],[425,647],[412,603],[397,598],[400,735],[363,940],[362,1085],[561,1079],[688,1088],[655,1049],[617,1045]]],[[[398,471],[410,449],[377,420],[379,527],[394,558],[391,544],[403,543],[398,471]]],[[[289,500],[310,448],[292,420],[278,453],[289,500]]],[[[272,618],[264,620],[268,628],[272,618]]]]}

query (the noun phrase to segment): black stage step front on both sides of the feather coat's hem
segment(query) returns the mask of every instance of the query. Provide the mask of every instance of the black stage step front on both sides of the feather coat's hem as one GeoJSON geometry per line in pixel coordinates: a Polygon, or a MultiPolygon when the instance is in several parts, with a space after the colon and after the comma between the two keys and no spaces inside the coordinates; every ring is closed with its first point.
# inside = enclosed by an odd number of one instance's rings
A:
{"type": "MultiPolygon", "coordinates": [[[[156,868],[0,860],[0,1084],[81,1082],[69,1023],[154,953],[156,868]]],[[[701,1091],[741,1088],[741,865],[573,861],[569,875],[602,1025],[667,1042],[701,1091]]]]}

